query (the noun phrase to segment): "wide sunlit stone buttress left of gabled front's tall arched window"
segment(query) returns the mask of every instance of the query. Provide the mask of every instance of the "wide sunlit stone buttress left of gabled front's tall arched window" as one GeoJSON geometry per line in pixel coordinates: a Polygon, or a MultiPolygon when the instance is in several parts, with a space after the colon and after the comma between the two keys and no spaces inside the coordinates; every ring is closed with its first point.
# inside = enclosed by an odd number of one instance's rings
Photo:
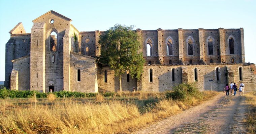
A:
{"type": "Polygon", "coordinates": [[[31,28],[30,90],[45,92],[45,22],[31,28]]]}

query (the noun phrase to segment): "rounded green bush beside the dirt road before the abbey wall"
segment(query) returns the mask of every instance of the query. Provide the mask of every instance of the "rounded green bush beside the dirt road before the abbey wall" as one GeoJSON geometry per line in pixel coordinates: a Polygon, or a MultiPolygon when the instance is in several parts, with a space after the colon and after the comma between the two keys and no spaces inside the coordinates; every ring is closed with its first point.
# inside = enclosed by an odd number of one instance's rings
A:
{"type": "Polygon", "coordinates": [[[166,98],[173,100],[185,100],[191,97],[201,99],[202,93],[196,88],[194,84],[181,83],[172,88],[173,90],[165,93],[166,98]]]}

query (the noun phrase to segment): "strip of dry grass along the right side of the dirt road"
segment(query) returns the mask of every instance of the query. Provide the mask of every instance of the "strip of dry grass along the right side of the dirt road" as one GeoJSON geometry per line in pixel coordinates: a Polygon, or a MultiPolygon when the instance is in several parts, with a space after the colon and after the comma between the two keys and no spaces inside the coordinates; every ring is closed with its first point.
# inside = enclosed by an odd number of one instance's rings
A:
{"type": "Polygon", "coordinates": [[[247,93],[245,96],[249,105],[246,118],[247,129],[249,133],[256,134],[256,93],[247,93]]]}

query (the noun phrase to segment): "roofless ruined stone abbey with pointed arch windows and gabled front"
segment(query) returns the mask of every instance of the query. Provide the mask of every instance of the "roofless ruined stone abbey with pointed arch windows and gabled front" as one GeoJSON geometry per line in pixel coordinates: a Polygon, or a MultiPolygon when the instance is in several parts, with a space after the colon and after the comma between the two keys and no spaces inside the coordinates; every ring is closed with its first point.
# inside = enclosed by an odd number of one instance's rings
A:
{"type": "MultiPolygon", "coordinates": [[[[114,71],[96,64],[104,31],[78,31],[71,21],[51,10],[33,20],[31,33],[26,33],[22,23],[10,30],[5,54],[7,88],[118,90],[114,71]]],[[[136,33],[146,63],[140,80],[132,79],[129,72],[123,74],[123,90],[165,91],[181,82],[195,82],[201,90],[210,90],[210,79],[213,90],[220,91],[231,81],[256,90],[255,64],[245,63],[243,28],[136,29],[136,33]]]]}

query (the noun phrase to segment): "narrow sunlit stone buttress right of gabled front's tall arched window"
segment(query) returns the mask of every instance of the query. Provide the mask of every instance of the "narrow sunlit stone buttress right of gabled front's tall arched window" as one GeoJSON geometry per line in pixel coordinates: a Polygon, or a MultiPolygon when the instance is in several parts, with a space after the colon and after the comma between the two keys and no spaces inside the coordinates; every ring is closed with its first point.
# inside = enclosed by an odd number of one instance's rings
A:
{"type": "Polygon", "coordinates": [[[70,89],[70,51],[71,38],[69,37],[69,29],[66,29],[63,37],[63,88],[65,91],[70,89]]]}

